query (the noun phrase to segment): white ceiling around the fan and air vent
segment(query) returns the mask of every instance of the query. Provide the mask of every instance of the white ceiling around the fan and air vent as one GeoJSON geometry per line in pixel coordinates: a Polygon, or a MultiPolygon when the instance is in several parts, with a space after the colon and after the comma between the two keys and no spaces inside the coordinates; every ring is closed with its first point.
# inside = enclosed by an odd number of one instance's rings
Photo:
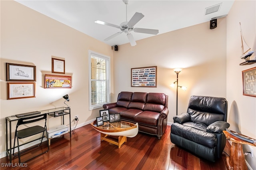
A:
{"type": "MultiPolygon", "coordinates": [[[[120,25],[126,21],[126,4],[122,0],[16,0],[54,20],[66,24],[84,34],[109,45],[128,43],[125,33],[104,41],[118,28],[94,23],[101,20],[120,25]]],[[[135,12],[144,18],[134,28],[159,30],[159,34],[209,22],[212,18],[228,14],[234,0],[130,0],[127,6],[127,21],[135,12]],[[205,8],[221,4],[218,12],[205,15],[205,8]]],[[[210,25],[210,24],[209,24],[210,25]]],[[[210,28],[209,28],[210,29],[210,28]]],[[[154,36],[131,32],[135,40],[154,36]]]]}

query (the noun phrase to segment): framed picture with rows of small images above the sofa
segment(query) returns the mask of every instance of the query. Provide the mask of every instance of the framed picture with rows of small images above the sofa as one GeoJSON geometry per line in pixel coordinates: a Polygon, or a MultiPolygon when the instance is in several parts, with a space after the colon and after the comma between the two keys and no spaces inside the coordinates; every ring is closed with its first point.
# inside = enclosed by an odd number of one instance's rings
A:
{"type": "Polygon", "coordinates": [[[131,87],[156,87],[157,66],[131,69],[131,87]]]}

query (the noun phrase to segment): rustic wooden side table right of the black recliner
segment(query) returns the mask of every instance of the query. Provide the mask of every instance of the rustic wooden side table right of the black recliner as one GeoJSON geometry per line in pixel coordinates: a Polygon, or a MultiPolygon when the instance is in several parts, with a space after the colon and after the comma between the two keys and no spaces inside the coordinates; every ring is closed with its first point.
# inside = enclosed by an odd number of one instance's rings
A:
{"type": "Polygon", "coordinates": [[[244,159],[244,152],[242,144],[249,144],[256,146],[256,144],[246,142],[232,134],[228,133],[226,130],[223,131],[226,138],[232,142],[230,148],[230,156],[226,158],[226,167],[228,170],[247,170],[247,166],[244,159]]]}

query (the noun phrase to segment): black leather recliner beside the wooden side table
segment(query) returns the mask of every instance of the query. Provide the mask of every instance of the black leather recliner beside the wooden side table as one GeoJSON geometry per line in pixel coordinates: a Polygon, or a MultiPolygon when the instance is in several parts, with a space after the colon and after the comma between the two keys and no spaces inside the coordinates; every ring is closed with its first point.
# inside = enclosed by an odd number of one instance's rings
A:
{"type": "Polygon", "coordinates": [[[222,97],[191,96],[187,113],[173,117],[171,142],[189,152],[215,162],[226,145],[222,132],[227,121],[228,102],[222,97]]]}

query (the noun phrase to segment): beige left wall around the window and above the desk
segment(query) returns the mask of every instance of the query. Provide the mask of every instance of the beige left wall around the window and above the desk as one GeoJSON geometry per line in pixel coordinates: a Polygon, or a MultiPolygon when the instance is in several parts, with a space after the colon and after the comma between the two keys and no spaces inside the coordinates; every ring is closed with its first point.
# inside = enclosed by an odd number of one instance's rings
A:
{"type": "MultiPolygon", "coordinates": [[[[65,94],[68,94],[70,98],[67,104],[71,107],[72,119],[75,115],[79,115],[78,123],[83,124],[98,116],[98,109],[89,111],[89,49],[108,55],[113,61],[111,46],[22,4],[14,1],[1,1],[1,153],[4,152],[6,146],[5,117],[65,107],[63,103],[65,100],[62,98],[65,94]],[[72,76],[71,89],[44,89],[44,74],[53,74],[51,73],[52,55],[65,59],[65,75],[72,76]],[[36,98],[7,100],[6,62],[36,65],[36,98]]],[[[113,77],[112,73],[111,77],[113,77]]],[[[65,125],[68,125],[66,120],[65,125]]],[[[48,127],[60,125],[60,123],[60,119],[48,117],[48,127]]]]}

